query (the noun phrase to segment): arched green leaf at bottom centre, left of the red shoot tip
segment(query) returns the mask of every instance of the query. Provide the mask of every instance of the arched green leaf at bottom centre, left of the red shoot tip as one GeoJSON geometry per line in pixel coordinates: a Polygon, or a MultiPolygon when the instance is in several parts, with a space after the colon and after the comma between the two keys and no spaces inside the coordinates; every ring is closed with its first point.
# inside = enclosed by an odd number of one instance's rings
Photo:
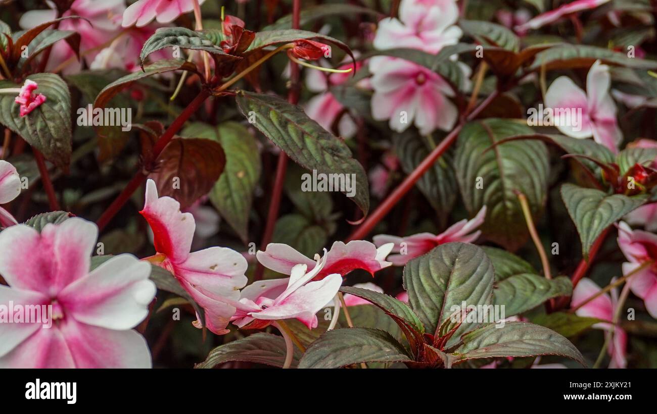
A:
{"type": "Polygon", "coordinates": [[[361,362],[411,361],[389,333],[369,328],[333,329],[313,342],[299,362],[300,368],[339,368],[361,362]]]}

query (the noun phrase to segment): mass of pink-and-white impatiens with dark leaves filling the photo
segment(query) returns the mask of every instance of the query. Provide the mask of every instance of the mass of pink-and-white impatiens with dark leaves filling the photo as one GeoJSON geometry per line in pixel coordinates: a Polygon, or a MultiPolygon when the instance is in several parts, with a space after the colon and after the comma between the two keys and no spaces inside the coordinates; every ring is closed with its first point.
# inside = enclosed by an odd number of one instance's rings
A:
{"type": "Polygon", "coordinates": [[[3,3],[0,365],[654,364],[647,1],[224,3],[3,3]]]}

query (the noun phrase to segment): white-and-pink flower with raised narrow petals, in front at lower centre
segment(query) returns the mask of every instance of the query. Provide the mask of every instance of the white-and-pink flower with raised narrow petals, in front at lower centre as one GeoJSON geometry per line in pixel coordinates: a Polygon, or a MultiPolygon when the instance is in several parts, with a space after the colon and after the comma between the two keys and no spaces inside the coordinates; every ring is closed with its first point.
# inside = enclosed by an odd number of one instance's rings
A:
{"type": "Polygon", "coordinates": [[[241,306],[231,318],[233,323],[261,329],[273,321],[296,318],[309,329],[317,327],[315,314],[335,297],[342,284],[342,276],[337,273],[312,281],[325,268],[327,256],[317,260],[307,273],[307,264],[296,264],[290,278],[256,281],[245,287],[241,306]]]}

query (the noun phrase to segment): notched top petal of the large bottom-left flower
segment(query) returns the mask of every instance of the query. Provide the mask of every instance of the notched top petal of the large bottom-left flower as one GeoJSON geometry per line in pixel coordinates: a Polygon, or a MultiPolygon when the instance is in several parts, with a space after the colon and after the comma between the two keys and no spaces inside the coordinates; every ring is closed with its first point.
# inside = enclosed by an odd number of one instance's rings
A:
{"type": "Polygon", "coordinates": [[[0,232],[0,274],[18,289],[57,297],[89,272],[98,228],[82,218],[46,224],[41,234],[24,224],[0,232]]]}

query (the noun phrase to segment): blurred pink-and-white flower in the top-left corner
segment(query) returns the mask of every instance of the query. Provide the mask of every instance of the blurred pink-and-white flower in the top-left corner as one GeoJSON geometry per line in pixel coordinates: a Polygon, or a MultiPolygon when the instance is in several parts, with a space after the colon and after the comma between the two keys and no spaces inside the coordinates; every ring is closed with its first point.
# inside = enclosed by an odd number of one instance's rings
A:
{"type": "MultiPolygon", "coordinates": [[[[55,18],[57,18],[57,12],[55,11],[54,3],[46,3],[51,9],[30,10],[25,12],[20,18],[20,27],[31,29],[35,26],[39,26],[39,24],[55,20],[55,18]]],[[[92,52],[90,49],[99,47],[103,43],[112,39],[116,30],[120,26],[121,15],[124,10],[124,0],[75,0],[70,9],[64,12],[63,17],[81,16],[84,19],[73,18],[62,20],[59,24],[59,29],[72,30],[80,33],[80,52],[89,51],[85,54],[85,60],[87,61],[87,64],[91,64],[97,52],[92,52]]],[[[51,71],[62,62],[74,57],[75,53],[68,43],[65,41],[58,41],[53,46],[48,60],[48,66],[46,68],[51,71]]],[[[64,72],[76,72],[80,67],[80,64],[68,66],[64,72]]]]}

